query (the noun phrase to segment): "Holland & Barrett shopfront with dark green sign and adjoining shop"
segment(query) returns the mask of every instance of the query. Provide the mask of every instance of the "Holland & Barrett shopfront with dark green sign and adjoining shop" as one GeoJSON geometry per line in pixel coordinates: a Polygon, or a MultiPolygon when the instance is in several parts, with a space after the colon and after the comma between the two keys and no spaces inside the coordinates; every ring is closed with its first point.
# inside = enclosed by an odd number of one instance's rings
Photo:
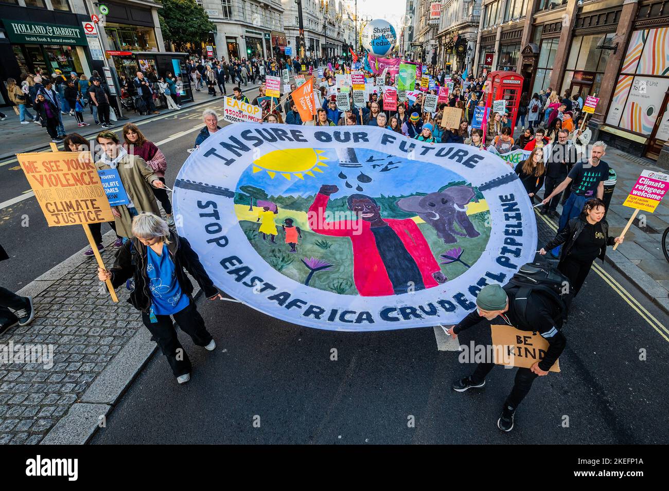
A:
{"type": "MultiPolygon", "coordinates": [[[[161,5],[151,0],[105,2],[101,15],[91,0],[0,0],[0,79],[21,73],[60,69],[91,75],[112,65],[106,51],[165,51],[158,18],[161,5]],[[91,15],[100,17],[92,31],[91,15]]],[[[0,106],[7,92],[0,86],[0,106]]]]}

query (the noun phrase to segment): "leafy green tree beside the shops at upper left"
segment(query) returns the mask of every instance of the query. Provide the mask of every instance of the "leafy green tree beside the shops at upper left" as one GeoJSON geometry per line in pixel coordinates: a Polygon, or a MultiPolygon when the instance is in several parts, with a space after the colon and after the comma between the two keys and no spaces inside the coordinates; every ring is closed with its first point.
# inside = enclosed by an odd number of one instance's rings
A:
{"type": "Polygon", "coordinates": [[[177,51],[183,51],[187,43],[202,43],[209,39],[215,29],[204,9],[195,0],[157,0],[163,4],[159,9],[161,31],[167,43],[173,43],[177,51]]]}

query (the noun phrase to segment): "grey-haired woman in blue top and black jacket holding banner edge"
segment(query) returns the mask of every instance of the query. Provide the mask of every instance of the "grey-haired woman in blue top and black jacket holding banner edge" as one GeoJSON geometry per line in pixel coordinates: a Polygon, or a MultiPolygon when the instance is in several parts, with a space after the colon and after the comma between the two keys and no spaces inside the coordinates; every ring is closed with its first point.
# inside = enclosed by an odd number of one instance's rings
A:
{"type": "Polygon", "coordinates": [[[141,311],[142,322],[167,357],[177,382],[185,383],[191,379],[191,361],[179,343],[172,319],[196,345],[209,351],[216,347],[197,312],[186,271],[209,300],[223,297],[188,240],[171,230],[165,220],[153,213],[140,213],[132,220],[132,235],[118,251],[111,269],[98,268],[98,279],[111,280],[114,288],[134,279],[128,303],[141,311]]]}

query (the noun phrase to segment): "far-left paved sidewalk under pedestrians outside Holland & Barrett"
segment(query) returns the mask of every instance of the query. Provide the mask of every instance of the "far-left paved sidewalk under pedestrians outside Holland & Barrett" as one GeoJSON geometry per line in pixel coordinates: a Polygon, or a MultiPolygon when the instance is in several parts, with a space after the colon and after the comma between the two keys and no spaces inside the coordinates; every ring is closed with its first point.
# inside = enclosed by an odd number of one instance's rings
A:
{"type": "MultiPolygon", "coordinates": [[[[235,87],[234,84],[225,84],[227,89],[228,96],[232,94],[232,89],[235,87]]],[[[242,86],[242,92],[248,92],[260,87],[260,83],[252,84],[249,83],[247,87],[242,86]]],[[[218,94],[218,88],[216,89],[218,94]]],[[[218,100],[221,96],[212,97],[207,94],[207,89],[201,90],[200,92],[194,92],[193,102],[187,102],[182,104],[181,109],[191,108],[199,104],[207,104],[211,100],[218,100]]],[[[138,113],[134,111],[124,112],[124,117],[128,118],[127,121],[114,121],[114,128],[120,128],[126,123],[134,123],[138,121],[149,120],[153,118],[160,118],[165,116],[165,114],[170,114],[177,110],[168,110],[167,108],[158,109],[161,114],[149,114],[147,116],[139,116],[138,113]]],[[[5,108],[3,112],[7,114],[7,119],[5,121],[0,121],[0,134],[3,136],[2,143],[0,144],[0,160],[4,158],[13,157],[15,154],[20,152],[35,152],[39,148],[48,148],[51,142],[51,137],[46,132],[46,128],[42,128],[38,124],[21,124],[19,122],[19,116],[14,114],[12,108],[5,108]]],[[[35,114],[33,109],[30,109],[31,114],[35,114]]],[[[84,110],[84,122],[89,123],[90,126],[79,127],[77,126],[76,118],[74,116],[63,115],[63,126],[65,127],[65,132],[69,133],[79,133],[82,136],[92,136],[98,134],[102,130],[99,125],[94,124],[93,116],[90,113],[89,108],[84,110]]],[[[114,111],[110,112],[110,115],[113,115],[114,111]]],[[[61,144],[58,144],[62,146],[61,144]]]]}

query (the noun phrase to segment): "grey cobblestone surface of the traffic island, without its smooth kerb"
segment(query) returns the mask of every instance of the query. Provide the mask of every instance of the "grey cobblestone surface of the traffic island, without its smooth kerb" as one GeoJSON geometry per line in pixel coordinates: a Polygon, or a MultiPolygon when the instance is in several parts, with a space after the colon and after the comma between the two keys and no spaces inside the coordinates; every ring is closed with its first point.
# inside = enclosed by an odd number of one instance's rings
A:
{"type": "MultiPolygon", "coordinates": [[[[115,250],[102,255],[111,265],[115,250]]],[[[138,312],[117,290],[118,304],[100,293],[95,259],[64,273],[33,298],[35,320],[10,329],[3,345],[53,345],[53,366],[0,365],[0,444],[37,444],[67,414],[95,377],[143,327],[138,312]]]]}

